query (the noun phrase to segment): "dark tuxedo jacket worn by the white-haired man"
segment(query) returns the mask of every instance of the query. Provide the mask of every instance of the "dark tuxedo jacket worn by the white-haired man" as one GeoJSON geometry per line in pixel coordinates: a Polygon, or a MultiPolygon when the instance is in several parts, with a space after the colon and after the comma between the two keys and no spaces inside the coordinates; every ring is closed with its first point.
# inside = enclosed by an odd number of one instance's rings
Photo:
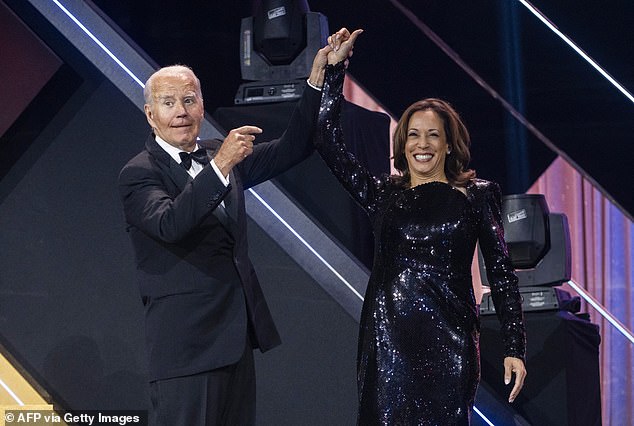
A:
{"type": "MultiPolygon", "coordinates": [[[[119,175],[145,307],[150,380],[237,362],[247,342],[280,343],[248,257],[243,191],[310,155],[320,93],[304,91],[281,138],[258,143],[225,187],[211,165],[192,179],[151,135],[119,175]],[[224,200],[225,207],[220,204],[224,200]]],[[[222,141],[201,141],[213,158],[222,141]]]]}

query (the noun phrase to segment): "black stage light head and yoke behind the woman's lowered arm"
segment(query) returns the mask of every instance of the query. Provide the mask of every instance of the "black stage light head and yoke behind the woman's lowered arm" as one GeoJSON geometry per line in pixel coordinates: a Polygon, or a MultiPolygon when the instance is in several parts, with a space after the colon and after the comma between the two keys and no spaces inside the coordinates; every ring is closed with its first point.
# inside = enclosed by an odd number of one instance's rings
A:
{"type": "MultiPolygon", "coordinates": [[[[502,226],[520,286],[557,286],[570,280],[568,219],[550,213],[543,195],[502,197],[502,226]]],[[[488,286],[480,250],[478,257],[482,284],[488,286]]]]}

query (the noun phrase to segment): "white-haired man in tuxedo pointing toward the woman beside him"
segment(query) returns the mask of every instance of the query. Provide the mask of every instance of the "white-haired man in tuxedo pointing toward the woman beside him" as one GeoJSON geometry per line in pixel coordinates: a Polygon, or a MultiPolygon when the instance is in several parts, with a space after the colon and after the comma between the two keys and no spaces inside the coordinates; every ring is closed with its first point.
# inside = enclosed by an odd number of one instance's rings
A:
{"type": "Polygon", "coordinates": [[[151,418],[165,426],[255,423],[253,348],[280,343],[248,257],[243,191],[308,157],[330,47],[285,133],[254,144],[243,126],[198,140],[200,82],[184,66],[144,89],[152,132],[119,189],[145,309],[151,418]]]}

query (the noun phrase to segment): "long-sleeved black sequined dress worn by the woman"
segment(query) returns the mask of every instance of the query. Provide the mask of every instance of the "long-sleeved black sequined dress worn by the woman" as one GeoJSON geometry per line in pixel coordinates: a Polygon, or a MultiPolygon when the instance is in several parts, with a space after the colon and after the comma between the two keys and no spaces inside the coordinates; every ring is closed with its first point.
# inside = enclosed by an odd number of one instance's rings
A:
{"type": "Polygon", "coordinates": [[[403,188],[389,176],[370,175],[342,140],[343,77],[342,64],[327,67],[316,144],[369,215],[375,235],[359,332],[358,424],[468,424],[480,378],[471,283],[476,241],[502,324],[505,356],[525,355],[499,187],[474,179],[465,196],[442,182],[403,188]]]}

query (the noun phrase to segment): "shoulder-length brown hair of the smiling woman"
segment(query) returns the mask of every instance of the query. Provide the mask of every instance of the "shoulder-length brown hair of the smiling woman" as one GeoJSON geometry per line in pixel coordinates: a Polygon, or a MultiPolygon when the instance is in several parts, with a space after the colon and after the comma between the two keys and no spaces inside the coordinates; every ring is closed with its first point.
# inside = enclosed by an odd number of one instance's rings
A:
{"type": "Polygon", "coordinates": [[[465,186],[470,179],[475,178],[475,171],[467,169],[471,160],[469,131],[458,112],[448,102],[435,98],[414,102],[405,110],[396,125],[393,138],[394,167],[401,175],[395,177],[395,181],[405,186],[410,185],[411,176],[405,157],[409,120],[415,112],[427,110],[438,114],[445,126],[447,145],[451,151],[445,158],[445,175],[451,185],[465,186]]]}

